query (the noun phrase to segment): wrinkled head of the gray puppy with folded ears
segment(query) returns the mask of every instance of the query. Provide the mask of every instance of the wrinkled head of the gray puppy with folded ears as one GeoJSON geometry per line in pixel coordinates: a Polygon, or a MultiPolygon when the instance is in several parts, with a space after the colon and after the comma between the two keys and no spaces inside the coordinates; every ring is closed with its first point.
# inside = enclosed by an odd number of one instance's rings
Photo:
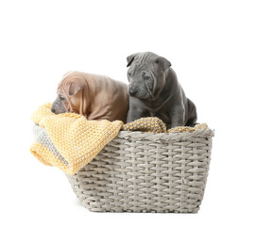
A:
{"type": "Polygon", "coordinates": [[[165,71],[171,63],[164,57],[145,52],[128,60],[128,94],[138,99],[156,99],[165,85],[165,71]]]}

